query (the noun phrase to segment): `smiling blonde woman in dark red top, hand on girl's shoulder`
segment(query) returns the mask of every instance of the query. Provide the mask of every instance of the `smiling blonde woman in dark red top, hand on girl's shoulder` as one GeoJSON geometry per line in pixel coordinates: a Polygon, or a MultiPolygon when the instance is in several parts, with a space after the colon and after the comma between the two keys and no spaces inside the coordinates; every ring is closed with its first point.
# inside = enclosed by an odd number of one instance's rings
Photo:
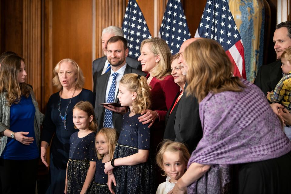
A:
{"type": "MultiPolygon", "coordinates": [[[[180,87],[171,75],[171,52],[167,43],[161,38],[150,38],[142,41],[141,55],[138,61],[142,71],[148,72],[146,78],[151,86],[152,108],[146,110],[139,121],[150,123],[151,149],[156,152],[158,144],[163,139],[165,116],[172,105],[180,87]]],[[[159,182],[159,181],[158,181],[159,182]]],[[[162,180],[164,182],[164,180],[162,180]]]]}

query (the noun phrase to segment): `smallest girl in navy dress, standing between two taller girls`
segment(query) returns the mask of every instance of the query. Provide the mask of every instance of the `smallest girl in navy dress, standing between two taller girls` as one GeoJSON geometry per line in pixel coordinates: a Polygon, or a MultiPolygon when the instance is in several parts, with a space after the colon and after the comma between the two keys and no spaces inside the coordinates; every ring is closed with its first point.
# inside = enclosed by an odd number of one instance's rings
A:
{"type": "Polygon", "coordinates": [[[95,179],[87,193],[110,194],[111,192],[107,186],[108,175],[104,172],[104,164],[113,158],[113,151],[117,142],[116,130],[112,128],[100,129],[96,134],[95,142],[98,158],[96,160],[95,179]]]}

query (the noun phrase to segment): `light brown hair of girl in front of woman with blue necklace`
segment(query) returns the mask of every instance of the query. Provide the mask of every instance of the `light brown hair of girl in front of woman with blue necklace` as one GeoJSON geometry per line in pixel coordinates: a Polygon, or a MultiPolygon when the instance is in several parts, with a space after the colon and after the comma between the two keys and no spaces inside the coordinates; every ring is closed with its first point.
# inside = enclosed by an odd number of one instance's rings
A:
{"type": "MultiPolygon", "coordinates": [[[[91,102],[89,102],[89,101],[80,101],[73,107],[72,111],[74,109],[79,109],[79,110],[82,110],[82,111],[86,112],[89,117],[92,115],[93,116],[93,120],[89,123],[89,127],[88,128],[91,131],[94,131],[94,132],[97,131],[98,125],[97,125],[97,121],[96,121],[96,117],[95,117],[95,113],[94,113],[94,108],[93,108],[91,102]]],[[[76,126],[74,126],[74,128],[77,129],[76,126]]]]}

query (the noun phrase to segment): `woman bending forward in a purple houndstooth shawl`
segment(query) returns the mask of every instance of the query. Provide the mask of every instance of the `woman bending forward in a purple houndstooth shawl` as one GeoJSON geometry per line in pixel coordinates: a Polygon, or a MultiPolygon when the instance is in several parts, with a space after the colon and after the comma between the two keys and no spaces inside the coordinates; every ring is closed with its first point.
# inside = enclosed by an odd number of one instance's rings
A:
{"type": "Polygon", "coordinates": [[[169,193],[186,187],[188,194],[291,193],[291,142],[263,92],[232,77],[232,64],[214,40],[192,42],[185,59],[186,94],[199,101],[203,137],[169,193]]]}

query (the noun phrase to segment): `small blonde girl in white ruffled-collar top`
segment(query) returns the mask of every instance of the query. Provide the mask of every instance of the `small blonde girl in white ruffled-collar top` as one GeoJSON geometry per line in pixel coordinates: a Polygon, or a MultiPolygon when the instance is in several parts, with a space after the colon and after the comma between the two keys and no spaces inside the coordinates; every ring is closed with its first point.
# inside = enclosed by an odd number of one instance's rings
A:
{"type": "Polygon", "coordinates": [[[165,139],[160,145],[156,161],[164,171],[162,176],[167,176],[167,178],[166,182],[159,185],[156,194],[167,194],[174,188],[178,179],[186,171],[190,154],[186,146],[181,142],[165,139]]]}

